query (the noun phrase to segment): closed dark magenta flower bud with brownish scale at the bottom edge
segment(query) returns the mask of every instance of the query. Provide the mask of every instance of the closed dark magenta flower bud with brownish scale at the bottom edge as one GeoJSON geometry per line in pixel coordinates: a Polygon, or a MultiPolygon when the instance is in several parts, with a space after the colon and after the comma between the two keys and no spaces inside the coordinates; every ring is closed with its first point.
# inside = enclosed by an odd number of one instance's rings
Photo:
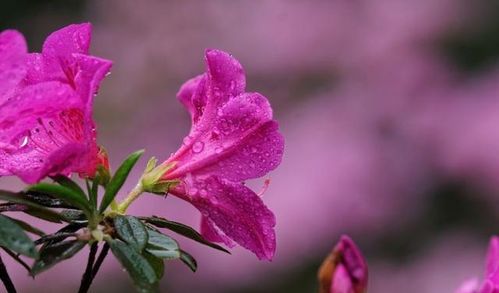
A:
{"type": "Polygon", "coordinates": [[[367,289],[367,264],[355,243],[341,236],[319,269],[321,293],[363,293],[367,289]]]}

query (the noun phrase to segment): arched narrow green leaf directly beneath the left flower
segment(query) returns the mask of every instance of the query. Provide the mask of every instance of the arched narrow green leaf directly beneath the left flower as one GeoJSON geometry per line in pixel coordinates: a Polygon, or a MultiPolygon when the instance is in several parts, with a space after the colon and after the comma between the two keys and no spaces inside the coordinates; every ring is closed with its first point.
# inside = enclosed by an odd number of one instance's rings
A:
{"type": "Polygon", "coordinates": [[[31,186],[29,190],[48,194],[56,198],[62,199],[67,203],[81,209],[88,216],[92,215],[92,207],[88,202],[88,200],[86,199],[86,197],[73,191],[70,188],[50,183],[38,183],[36,185],[31,186]]]}

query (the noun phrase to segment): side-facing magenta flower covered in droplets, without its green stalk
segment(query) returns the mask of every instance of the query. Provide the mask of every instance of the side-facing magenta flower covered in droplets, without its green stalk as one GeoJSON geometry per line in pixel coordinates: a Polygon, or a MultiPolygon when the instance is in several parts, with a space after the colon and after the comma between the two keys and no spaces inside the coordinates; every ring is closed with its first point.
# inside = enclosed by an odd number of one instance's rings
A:
{"type": "Polygon", "coordinates": [[[187,81],[178,93],[191,114],[183,145],[163,166],[163,180],[178,180],[170,193],[203,214],[201,232],[209,240],[234,241],[271,260],[275,217],[244,185],[281,162],[284,138],[264,96],[245,92],[241,64],[229,54],[206,51],[207,72],[187,81]]]}

